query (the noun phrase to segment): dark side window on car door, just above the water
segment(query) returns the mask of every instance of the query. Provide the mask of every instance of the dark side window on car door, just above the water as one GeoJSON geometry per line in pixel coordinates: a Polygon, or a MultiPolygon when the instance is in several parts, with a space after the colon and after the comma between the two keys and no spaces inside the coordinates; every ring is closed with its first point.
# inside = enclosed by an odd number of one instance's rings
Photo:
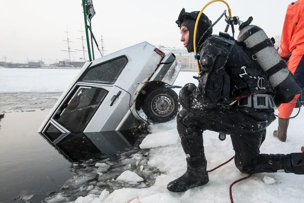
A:
{"type": "Polygon", "coordinates": [[[53,117],[70,132],[82,132],[105,98],[107,90],[95,87],[79,87],[71,99],[53,117]]]}

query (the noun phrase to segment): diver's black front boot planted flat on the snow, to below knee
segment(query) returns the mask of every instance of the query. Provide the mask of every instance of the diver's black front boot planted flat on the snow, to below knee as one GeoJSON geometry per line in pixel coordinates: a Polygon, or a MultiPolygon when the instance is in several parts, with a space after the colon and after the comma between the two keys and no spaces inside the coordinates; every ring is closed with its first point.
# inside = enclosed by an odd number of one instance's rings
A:
{"type": "Polygon", "coordinates": [[[172,192],[183,192],[209,182],[202,133],[181,137],[181,145],[187,156],[187,171],[167,185],[172,192]]]}

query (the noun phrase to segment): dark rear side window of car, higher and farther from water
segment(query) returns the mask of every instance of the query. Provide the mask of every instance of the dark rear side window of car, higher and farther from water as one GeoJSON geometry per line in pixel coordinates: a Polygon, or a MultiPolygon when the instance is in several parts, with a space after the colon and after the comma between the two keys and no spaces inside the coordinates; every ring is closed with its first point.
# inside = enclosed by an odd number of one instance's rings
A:
{"type": "Polygon", "coordinates": [[[127,57],[123,56],[98,64],[91,67],[80,81],[88,83],[114,84],[127,63],[127,57]]]}

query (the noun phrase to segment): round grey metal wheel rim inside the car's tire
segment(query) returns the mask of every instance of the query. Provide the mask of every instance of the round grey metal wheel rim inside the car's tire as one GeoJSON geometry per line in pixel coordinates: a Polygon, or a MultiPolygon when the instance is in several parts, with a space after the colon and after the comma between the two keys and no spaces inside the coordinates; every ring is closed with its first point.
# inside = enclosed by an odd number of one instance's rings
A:
{"type": "Polygon", "coordinates": [[[170,115],[174,110],[172,98],[166,94],[155,96],[151,103],[151,110],[159,117],[166,117],[170,115]]]}

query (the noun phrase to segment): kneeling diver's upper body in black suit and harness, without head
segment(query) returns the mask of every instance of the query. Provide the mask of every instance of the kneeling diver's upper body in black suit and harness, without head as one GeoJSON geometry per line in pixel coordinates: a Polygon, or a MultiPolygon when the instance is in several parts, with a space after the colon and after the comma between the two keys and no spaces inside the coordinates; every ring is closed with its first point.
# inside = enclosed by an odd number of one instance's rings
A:
{"type": "Polygon", "coordinates": [[[233,38],[209,37],[200,47],[201,77],[195,93],[203,107],[230,105],[254,94],[274,94],[260,65],[246,46],[233,38]]]}

